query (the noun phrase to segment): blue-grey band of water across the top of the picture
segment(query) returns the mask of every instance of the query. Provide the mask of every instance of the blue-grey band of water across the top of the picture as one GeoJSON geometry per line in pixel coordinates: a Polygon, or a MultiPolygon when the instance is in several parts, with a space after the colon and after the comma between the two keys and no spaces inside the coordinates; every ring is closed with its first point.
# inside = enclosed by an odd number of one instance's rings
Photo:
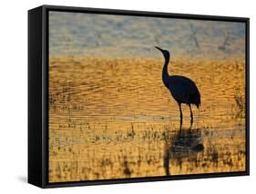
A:
{"type": "Polygon", "coordinates": [[[159,57],[159,45],[175,55],[221,57],[245,51],[245,24],[233,22],[49,13],[49,50],[59,55],[159,57]],[[200,48],[191,30],[196,32],[200,48]],[[224,50],[221,46],[225,43],[224,50]]]}

